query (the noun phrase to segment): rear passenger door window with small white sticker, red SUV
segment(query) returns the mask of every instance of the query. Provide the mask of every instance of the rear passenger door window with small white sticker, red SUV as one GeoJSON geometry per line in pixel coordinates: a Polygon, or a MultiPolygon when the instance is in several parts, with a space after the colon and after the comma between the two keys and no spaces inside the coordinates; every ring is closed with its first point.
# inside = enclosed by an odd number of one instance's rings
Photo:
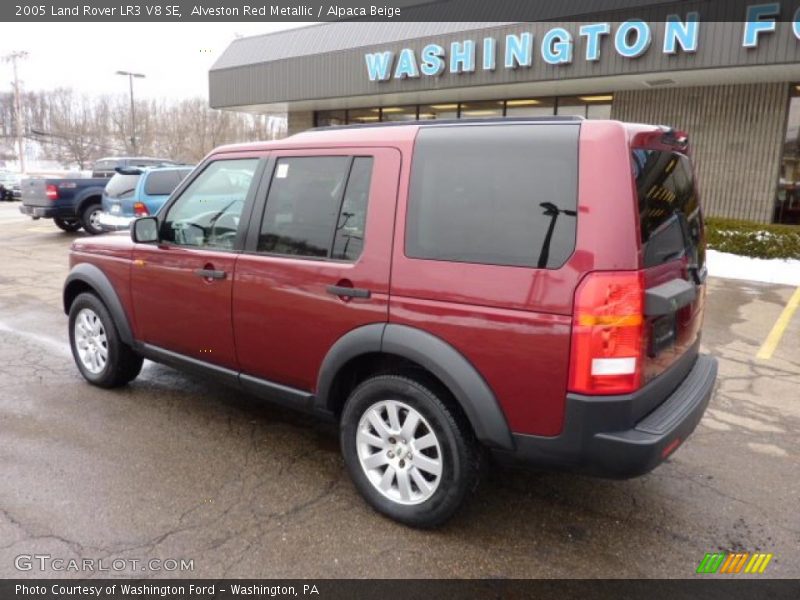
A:
{"type": "Polygon", "coordinates": [[[280,158],[258,251],[355,260],[364,243],[372,158],[280,158]]]}

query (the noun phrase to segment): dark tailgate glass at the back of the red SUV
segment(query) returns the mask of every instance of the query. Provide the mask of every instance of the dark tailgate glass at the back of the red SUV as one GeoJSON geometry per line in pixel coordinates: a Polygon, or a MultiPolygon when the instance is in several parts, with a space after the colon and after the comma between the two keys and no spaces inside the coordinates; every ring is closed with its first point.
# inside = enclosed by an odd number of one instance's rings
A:
{"type": "Polygon", "coordinates": [[[678,152],[637,149],[633,174],[644,266],[689,256],[705,264],[703,222],[689,159],[678,152]]]}

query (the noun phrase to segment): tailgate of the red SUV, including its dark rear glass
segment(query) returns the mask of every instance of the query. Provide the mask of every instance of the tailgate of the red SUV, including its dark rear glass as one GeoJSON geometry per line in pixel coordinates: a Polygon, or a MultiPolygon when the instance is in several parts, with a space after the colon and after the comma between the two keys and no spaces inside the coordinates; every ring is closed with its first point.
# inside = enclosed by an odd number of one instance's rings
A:
{"type": "Polygon", "coordinates": [[[697,353],[705,302],[705,236],[688,156],[637,148],[632,158],[645,273],[647,383],[686,353],[697,353]]]}

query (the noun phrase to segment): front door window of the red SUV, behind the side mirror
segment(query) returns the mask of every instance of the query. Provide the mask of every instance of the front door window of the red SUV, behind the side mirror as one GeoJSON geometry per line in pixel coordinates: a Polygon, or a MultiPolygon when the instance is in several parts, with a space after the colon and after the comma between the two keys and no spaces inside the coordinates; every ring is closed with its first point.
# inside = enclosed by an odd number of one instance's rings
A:
{"type": "Polygon", "coordinates": [[[208,165],[170,206],[162,239],[181,246],[232,250],[258,159],[208,165]]]}

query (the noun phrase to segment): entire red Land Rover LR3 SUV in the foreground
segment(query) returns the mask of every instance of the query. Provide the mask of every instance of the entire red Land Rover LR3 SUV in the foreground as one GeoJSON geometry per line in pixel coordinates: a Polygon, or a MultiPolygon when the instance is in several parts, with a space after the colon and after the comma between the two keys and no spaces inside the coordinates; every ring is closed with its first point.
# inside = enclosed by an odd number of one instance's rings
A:
{"type": "Polygon", "coordinates": [[[92,384],[142,359],[339,423],[378,511],[434,526],[487,456],[633,477],[693,431],[703,219],[686,137],[580,118],[224,146],[131,235],[74,243],[92,384]]]}

